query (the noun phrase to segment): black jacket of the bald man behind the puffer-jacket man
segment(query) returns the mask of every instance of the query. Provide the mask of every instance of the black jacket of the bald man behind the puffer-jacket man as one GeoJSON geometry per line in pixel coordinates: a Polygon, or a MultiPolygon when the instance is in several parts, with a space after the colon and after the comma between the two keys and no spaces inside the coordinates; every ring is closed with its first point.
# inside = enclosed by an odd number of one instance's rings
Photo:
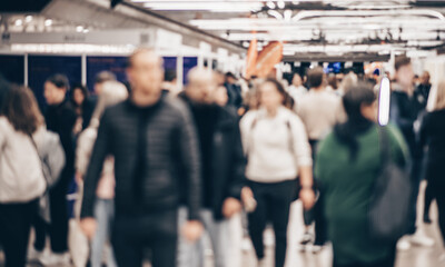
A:
{"type": "MultiPolygon", "coordinates": [[[[179,96],[195,113],[197,109],[184,93],[179,96]]],[[[217,220],[224,219],[222,204],[228,197],[240,199],[241,189],[246,184],[246,158],[239,131],[238,117],[228,108],[214,106],[216,109],[211,148],[210,176],[202,177],[202,188],[210,188],[211,209],[217,220]],[[210,182],[210,187],[206,186],[210,182]]],[[[196,113],[195,113],[196,116],[196,113]]]]}

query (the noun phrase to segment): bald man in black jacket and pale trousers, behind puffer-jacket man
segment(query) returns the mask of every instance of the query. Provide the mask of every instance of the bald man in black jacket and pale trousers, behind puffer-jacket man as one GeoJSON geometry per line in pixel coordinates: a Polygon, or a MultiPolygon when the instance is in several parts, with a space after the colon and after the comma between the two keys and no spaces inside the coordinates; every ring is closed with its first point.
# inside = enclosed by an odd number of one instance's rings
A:
{"type": "MultiPolygon", "coordinates": [[[[195,68],[188,80],[179,98],[191,110],[200,142],[204,196],[200,216],[211,239],[215,266],[224,267],[233,257],[229,255],[228,219],[241,210],[241,191],[248,190],[243,189],[246,159],[238,118],[233,109],[215,103],[217,82],[211,71],[195,68]]],[[[181,214],[185,217],[184,210],[181,214]]],[[[180,248],[179,267],[204,266],[202,244],[181,243],[180,248]]]]}

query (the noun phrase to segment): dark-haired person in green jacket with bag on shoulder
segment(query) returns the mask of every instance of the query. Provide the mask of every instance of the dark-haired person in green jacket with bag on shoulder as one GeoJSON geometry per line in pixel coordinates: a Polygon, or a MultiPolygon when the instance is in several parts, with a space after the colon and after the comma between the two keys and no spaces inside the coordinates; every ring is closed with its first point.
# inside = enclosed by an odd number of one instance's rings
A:
{"type": "MultiPolygon", "coordinates": [[[[315,170],[324,194],[334,267],[392,267],[396,244],[375,240],[367,220],[380,169],[376,96],[366,83],[358,83],[344,96],[343,103],[348,120],[320,144],[315,170]]],[[[393,160],[403,166],[406,144],[398,129],[386,128],[393,160]]]]}

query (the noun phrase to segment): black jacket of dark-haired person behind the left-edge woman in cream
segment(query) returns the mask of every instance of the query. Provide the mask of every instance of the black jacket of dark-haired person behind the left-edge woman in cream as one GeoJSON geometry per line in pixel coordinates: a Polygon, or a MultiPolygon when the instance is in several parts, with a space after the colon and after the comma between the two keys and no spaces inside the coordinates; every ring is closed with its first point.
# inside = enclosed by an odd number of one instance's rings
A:
{"type": "Polygon", "coordinates": [[[60,181],[68,186],[75,175],[75,139],[72,129],[76,123],[76,111],[67,99],[55,106],[48,106],[44,120],[47,128],[60,137],[66,157],[66,166],[62,170],[60,181]]]}

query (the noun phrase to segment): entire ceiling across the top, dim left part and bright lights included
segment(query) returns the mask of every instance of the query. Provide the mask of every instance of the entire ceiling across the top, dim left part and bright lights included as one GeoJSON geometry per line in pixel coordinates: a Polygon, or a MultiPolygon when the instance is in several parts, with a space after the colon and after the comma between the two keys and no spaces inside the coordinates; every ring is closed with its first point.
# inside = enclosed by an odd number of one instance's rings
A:
{"type": "Polygon", "coordinates": [[[0,31],[86,33],[168,26],[187,44],[207,41],[237,53],[254,38],[258,50],[283,41],[289,60],[445,51],[445,0],[113,0],[120,2],[113,10],[110,2],[37,0],[36,7],[17,12],[13,4],[0,4],[0,31]]]}

